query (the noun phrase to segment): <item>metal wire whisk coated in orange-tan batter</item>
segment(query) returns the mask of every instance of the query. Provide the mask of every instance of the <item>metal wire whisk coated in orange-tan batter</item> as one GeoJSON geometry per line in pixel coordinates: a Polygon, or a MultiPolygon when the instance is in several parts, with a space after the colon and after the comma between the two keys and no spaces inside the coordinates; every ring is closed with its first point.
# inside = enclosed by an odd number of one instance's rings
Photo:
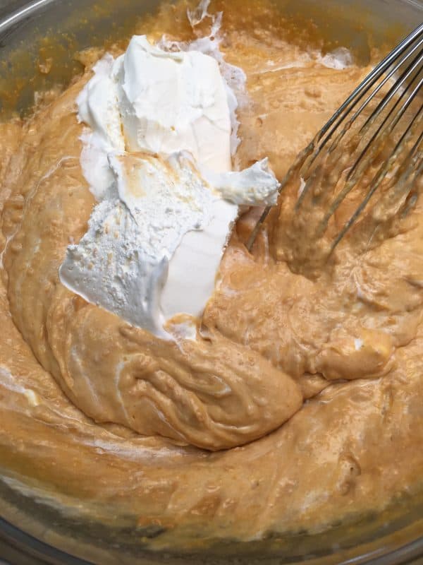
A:
{"type": "MultiPolygon", "coordinates": [[[[309,202],[318,202],[312,238],[319,238],[359,182],[362,200],[341,230],[331,235],[329,255],[367,207],[376,191],[385,209],[405,214],[417,201],[423,170],[423,24],[383,59],[300,153],[281,183],[302,179],[294,206],[298,217],[309,202]],[[383,195],[383,196],[381,196],[383,195]]],[[[420,187],[421,188],[421,187],[420,187]]],[[[266,208],[247,242],[250,251],[271,208],[266,208]]],[[[380,210],[380,208],[379,208],[380,210]]]]}

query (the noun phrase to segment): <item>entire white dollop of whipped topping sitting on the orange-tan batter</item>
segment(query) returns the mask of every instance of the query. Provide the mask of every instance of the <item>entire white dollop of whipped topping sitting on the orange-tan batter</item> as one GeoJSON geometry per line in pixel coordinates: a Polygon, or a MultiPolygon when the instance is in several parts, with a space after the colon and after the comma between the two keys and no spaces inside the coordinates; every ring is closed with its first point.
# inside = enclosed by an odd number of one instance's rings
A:
{"type": "Polygon", "coordinates": [[[266,159],[231,170],[234,100],[214,57],[145,36],[94,66],[77,103],[98,204],[68,247],[63,285],[162,338],[177,314],[201,316],[238,206],[278,197],[266,159]]]}

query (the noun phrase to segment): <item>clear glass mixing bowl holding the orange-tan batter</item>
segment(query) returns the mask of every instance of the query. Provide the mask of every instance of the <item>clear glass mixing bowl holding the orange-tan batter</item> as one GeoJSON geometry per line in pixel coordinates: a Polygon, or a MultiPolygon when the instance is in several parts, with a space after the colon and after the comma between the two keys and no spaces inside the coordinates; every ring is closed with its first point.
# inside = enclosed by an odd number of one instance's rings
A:
{"type": "MultiPolygon", "coordinates": [[[[231,1],[231,0],[228,0],[231,1]]],[[[134,18],[154,11],[154,0],[0,1],[0,112],[31,107],[34,93],[80,71],[73,54],[127,36],[134,18]],[[112,25],[113,23],[113,25],[112,25]],[[49,42],[51,40],[51,42],[49,42]],[[39,57],[53,57],[51,73],[37,72],[39,57]],[[14,93],[11,96],[11,93],[14,93]],[[18,93],[18,95],[16,95],[18,93]]],[[[312,18],[330,42],[369,56],[376,44],[392,44],[423,20],[419,0],[279,0],[290,17],[312,18]]],[[[1,333],[0,333],[1,339],[1,333]]],[[[404,496],[389,509],[319,535],[302,533],[262,542],[231,543],[197,554],[148,553],[131,528],[87,521],[43,498],[23,477],[11,478],[0,460],[0,563],[37,564],[374,564],[423,563],[423,497],[404,496]]]]}

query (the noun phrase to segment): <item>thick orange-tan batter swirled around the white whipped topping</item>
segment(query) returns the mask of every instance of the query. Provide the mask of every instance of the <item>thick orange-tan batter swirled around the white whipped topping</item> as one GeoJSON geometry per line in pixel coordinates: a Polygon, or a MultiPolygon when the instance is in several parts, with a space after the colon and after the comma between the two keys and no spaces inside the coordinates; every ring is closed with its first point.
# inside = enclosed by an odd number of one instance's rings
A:
{"type": "MultiPolygon", "coordinates": [[[[225,9],[221,49],[245,70],[251,100],[235,161],[269,155],[281,177],[367,69],[322,65],[264,2],[225,9]]],[[[193,39],[185,6],[149,26],[152,40],[193,39]]],[[[196,339],[180,317],[181,339],[164,342],[59,282],[95,203],[75,116],[90,77],[25,124],[1,126],[5,473],[168,550],[321,532],[417,496],[421,201],[400,233],[358,254],[351,236],[336,265],[310,279],[283,255],[290,187],[253,254],[243,244],[251,213],[237,222],[196,339]]]]}

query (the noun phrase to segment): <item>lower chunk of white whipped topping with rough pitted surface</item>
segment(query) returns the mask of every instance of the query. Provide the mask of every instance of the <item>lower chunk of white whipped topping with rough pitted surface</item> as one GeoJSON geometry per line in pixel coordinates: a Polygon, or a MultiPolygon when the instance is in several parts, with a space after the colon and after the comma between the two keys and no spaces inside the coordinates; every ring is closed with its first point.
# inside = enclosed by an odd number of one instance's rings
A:
{"type": "Polygon", "coordinates": [[[109,160],[115,182],[80,243],[69,247],[61,280],[88,302],[163,335],[167,319],[200,316],[204,295],[212,295],[236,206],[216,198],[183,154],[109,160]]]}

